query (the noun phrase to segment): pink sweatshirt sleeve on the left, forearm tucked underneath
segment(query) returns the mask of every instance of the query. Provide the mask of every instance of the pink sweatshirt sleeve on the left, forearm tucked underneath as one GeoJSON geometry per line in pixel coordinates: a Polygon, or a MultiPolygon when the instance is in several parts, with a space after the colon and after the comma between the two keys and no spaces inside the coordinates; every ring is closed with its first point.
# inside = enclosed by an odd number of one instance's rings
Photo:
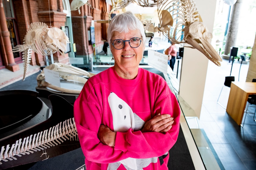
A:
{"type": "Polygon", "coordinates": [[[127,158],[121,150],[114,150],[98,139],[102,115],[99,106],[90,100],[78,97],[74,103],[74,117],[80,145],[86,159],[95,163],[113,163],[127,158]]]}

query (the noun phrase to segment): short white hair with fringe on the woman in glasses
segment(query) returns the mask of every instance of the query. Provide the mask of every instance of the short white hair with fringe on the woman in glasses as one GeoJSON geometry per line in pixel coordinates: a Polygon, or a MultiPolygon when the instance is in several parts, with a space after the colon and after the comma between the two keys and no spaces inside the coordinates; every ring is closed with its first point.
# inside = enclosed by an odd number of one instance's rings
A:
{"type": "Polygon", "coordinates": [[[112,38],[114,31],[117,31],[118,33],[128,33],[130,30],[137,29],[140,30],[142,44],[145,47],[146,35],[142,22],[130,11],[117,14],[113,17],[108,26],[108,43],[111,44],[110,39],[112,38]]]}

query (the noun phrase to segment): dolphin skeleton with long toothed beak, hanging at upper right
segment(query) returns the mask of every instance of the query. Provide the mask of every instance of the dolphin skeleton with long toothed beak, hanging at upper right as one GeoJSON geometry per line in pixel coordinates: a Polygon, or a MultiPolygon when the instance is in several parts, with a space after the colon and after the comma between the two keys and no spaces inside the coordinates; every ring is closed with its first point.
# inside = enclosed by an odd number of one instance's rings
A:
{"type": "Polygon", "coordinates": [[[147,25],[148,31],[161,31],[165,37],[177,44],[188,43],[214,64],[221,65],[222,59],[211,45],[212,34],[203,24],[193,0],[159,0],[157,12],[160,27],[147,25]]]}

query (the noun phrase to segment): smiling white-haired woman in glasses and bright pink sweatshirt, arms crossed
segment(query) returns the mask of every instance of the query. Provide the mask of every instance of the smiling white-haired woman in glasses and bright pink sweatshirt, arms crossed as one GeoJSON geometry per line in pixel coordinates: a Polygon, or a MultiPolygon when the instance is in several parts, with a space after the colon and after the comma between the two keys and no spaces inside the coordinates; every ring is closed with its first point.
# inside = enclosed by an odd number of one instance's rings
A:
{"type": "Polygon", "coordinates": [[[89,78],[74,103],[86,169],[168,169],[180,109],[165,80],[139,68],[142,23],[118,14],[108,27],[113,67],[89,78]]]}

